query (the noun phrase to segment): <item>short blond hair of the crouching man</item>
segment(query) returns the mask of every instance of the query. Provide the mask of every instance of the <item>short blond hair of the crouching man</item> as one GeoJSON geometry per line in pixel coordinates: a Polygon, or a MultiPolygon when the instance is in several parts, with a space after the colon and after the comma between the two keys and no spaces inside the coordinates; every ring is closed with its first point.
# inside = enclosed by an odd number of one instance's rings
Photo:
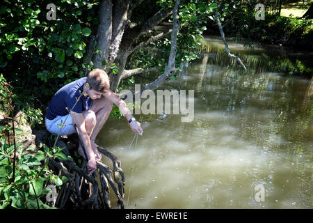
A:
{"type": "Polygon", "coordinates": [[[110,89],[109,76],[104,70],[99,68],[89,72],[86,83],[88,83],[90,89],[94,91],[104,93],[106,90],[110,89]]]}

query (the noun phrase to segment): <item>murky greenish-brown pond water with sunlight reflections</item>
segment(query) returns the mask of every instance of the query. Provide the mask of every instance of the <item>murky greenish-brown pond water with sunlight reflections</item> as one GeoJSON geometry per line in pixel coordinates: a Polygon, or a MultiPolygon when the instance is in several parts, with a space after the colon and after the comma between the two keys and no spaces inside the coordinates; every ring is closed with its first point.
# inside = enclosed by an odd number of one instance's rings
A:
{"type": "Polygon", "coordinates": [[[125,208],[313,208],[312,53],[229,43],[247,71],[207,37],[160,87],[194,90],[193,121],[135,115],[137,144],[124,118],[104,125],[96,143],[122,161],[125,208]]]}

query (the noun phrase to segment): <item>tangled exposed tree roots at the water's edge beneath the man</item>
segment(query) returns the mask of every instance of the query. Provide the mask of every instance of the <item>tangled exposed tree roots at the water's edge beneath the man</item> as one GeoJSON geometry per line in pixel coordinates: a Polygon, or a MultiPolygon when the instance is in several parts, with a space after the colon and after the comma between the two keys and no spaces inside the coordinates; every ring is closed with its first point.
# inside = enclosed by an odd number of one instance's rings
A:
{"type": "MultiPolygon", "coordinates": [[[[42,137],[43,134],[37,135],[36,140],[38,144],[44,144],[42,137]]],[[[72,154],[67,149],[70,146],[66,146],[62,141],[58,142],[58,144],[65,147],[63,149],[65,155],[70,156],[72,154]]],[[[97,162],[97,170],[89,176],[86,169],[86,160],[83,160],[81,167],[79,167],[77,158],[74,156],[72,156],[73,161],[49,159],[49,167],[55,173],[59,173],[60,176],[66,176],[69,181],[62,185],[60,190],[57,190],[55,203],[47,202],[48,205],[72,209],[112,208],[109,190],[109,187],[111,187],[118,198],[118,208],[124,208],[125,176],[121,168],[121,162],[105,148],[101,146],[97,146],[97,148],[100,153],[112,160],[113,170],[106,164],[97,162]]]]}

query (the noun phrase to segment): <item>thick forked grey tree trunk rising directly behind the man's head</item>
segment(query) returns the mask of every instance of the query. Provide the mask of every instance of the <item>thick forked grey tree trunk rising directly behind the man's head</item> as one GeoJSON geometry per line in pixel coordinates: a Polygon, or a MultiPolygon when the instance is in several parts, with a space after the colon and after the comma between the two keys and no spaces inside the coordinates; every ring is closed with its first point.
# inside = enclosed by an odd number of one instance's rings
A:
{"type": "MultiPolygon", "coordinates": [[[[116,91],[121,79],[134,72],[125,72],[127,59],[136,49],[144,47],[153,41],[164,38],[170,31],[164,31],[148,40],[134,44],[139,37],[147,34],[154,26],[157,26],[163,19],[172,14],[172,10],[161,9],[150,19],[141,25],[130,28],[129,19],[134,8],[142,1],[136,1],[129,5],[125,0],[102,0],[99,5],[99,25],[97,28],[97,49],[101,54],[93,56],[94,68],[109,68],[112,63],[118,67],[118,73],[109,72],[111,90],[116,91]],[[131,7],[130,7],[131,6],[131,7]]],[[[128,77],[127,76],[127,77],[128,77]]]]}

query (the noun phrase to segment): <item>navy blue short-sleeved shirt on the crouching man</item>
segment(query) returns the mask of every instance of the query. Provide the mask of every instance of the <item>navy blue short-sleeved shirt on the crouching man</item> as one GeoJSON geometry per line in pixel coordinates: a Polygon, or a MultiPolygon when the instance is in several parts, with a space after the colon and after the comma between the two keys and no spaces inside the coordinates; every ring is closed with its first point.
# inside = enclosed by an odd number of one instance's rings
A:
{"type": "Polygon", "coordinates": [[[53,120],[56,116],[65,116],[68,114],[66,107],[72,112],[81,113],[85,110],[90,109],[93,105],[93,100],[89,97],[81,95],[83,92],[83,84],[85,84],[87,77],[77,79],[70,84],[63,86],[60,90],[56,92],[52,98],[49,107],[47,109],[46,117],[49,120],[53,120]],[[72,109],[76,103],[77,98],[81,98],[72,109]]]}

